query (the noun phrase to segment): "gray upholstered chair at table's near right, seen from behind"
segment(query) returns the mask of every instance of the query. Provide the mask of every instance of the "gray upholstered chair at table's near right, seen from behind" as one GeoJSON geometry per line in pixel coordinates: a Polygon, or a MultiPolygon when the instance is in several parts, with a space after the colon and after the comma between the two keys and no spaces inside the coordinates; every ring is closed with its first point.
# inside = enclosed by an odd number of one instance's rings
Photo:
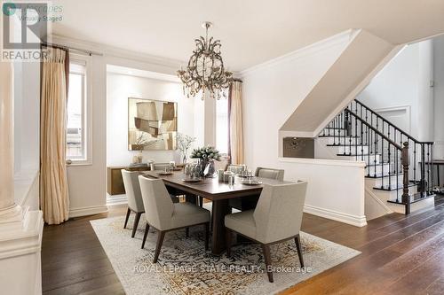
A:
{"type": "Polygon", "coordinates": [[[232,232],[248,237],[262,245],[268,280],[273,283],[270,270],[270,245],[294,238],[301,267],[304,267],[299,229],[305,203],[307,182],[264,185],[255,210],[228,214],[226,225],[226,254],[231,256],[232,232]]]}

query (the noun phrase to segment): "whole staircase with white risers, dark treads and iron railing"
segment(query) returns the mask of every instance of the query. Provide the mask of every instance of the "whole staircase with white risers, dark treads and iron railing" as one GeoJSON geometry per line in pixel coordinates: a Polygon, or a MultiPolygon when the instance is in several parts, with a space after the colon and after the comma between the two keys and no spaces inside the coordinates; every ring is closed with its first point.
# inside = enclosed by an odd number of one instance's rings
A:
{"type": "Polygon", "coordinates": [[[322,158],[366,163],[368,219],[433,206],[433,143],[417,141],[358,100],[321,131],[317,144],[325,147],[322,158]]]}

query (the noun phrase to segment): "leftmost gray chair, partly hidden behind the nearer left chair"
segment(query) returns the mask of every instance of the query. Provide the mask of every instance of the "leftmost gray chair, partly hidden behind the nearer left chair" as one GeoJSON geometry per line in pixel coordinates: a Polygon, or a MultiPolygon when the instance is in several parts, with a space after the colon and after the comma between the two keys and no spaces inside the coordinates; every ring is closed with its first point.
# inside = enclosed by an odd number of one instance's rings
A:
{"type": "Polygon", "coordinates": [[[134,225],[132,227],[131,237],[136,235],[136,230],[138,229],[140,216],[145,213],[145,208],[143,206],[142,194],[140,193],[139,186],[139,175],[138,171],[128,171],[122,169],[123,185],[125,187],[126,198],[128,199],[128,210],[126,212],[125,224],[123,229],[126,229],[128,219],[130,218],[131,211],[136,213],[134,218],[134,225]]]}

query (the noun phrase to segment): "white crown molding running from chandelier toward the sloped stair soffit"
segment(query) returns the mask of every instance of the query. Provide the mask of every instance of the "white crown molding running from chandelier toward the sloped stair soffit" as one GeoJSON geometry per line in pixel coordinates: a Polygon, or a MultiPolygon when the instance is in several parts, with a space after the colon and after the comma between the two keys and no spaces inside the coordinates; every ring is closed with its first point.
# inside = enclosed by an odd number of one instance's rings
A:
{"type": "Polygon", "coordinates": [[[348,29],[342,33],[332,35],[329,38],[323,39],[317,43],[312,43],[308,46],[305,46],[304,48],[284,54],[281,57],[270,59],[256,66],[251,66],[250,68],[241,71],[239,74],[243,78],[249,74],[264,70],[270,66],[275,66],[276,64],[286,63],[289,62],[289,60],[297,58],[306,58],[307,56],[313,55],[321,50],[327,50],[337,44],[349,42],[360,31],[360,29],[348,29]]]}

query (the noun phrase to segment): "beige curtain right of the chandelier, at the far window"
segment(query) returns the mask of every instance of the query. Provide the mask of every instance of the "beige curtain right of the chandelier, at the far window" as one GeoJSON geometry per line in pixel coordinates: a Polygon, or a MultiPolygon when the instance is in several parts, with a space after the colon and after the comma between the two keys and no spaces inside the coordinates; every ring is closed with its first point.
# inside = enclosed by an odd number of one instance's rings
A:
{"type": "Polygon", "coordinates": [[[243,163],[242,82],[234,81],[230,87],[230,157],[232,164],[243,163]]]}

